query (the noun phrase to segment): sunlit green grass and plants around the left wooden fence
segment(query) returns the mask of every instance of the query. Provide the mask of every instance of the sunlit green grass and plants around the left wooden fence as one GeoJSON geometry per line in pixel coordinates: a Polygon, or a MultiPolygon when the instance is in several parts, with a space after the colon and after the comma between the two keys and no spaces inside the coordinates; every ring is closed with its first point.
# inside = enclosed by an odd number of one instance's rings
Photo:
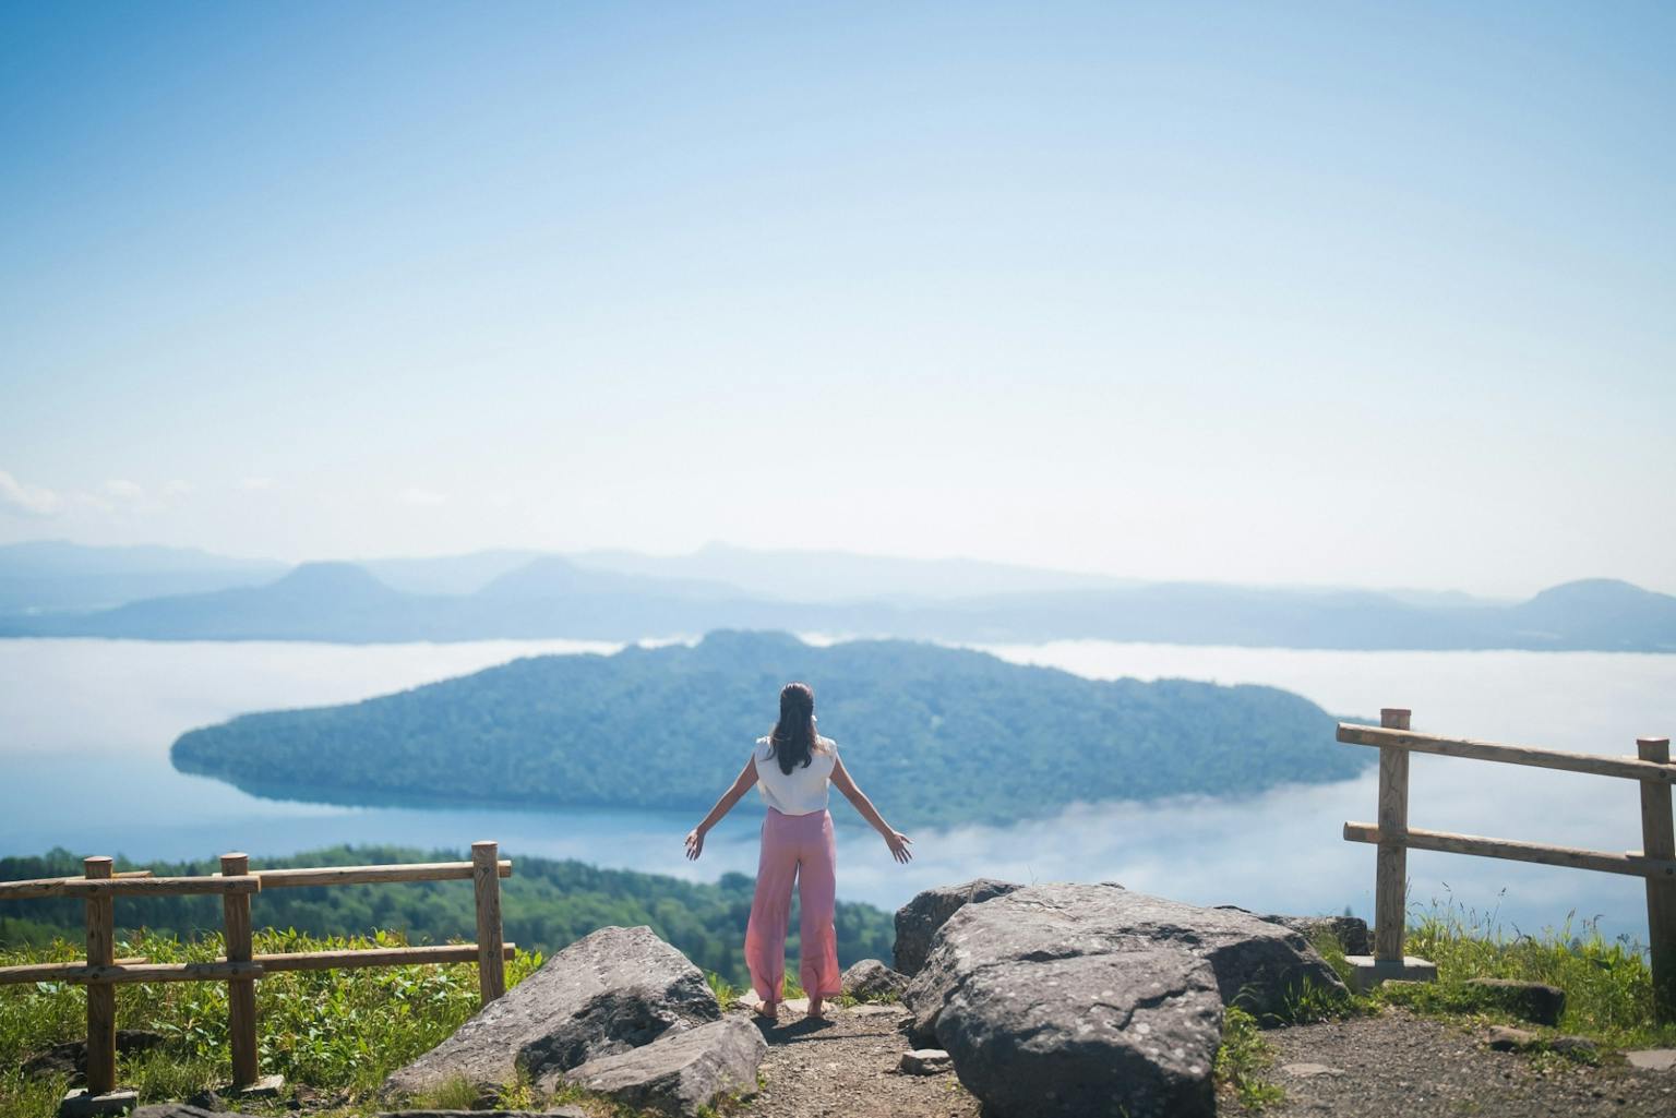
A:
{"type": "MultiPolygon", "coordinates": [[[[315,939],[295,932],[261,932],[258,952],[399,947],[401,935],[315,939]]],[[[0,965],[72,962],[80,944],[0,952],[0,965]]],[[[181,942],[141,934],[117,944],[119,957],[153,962],[203,962],[221,954],[206,935],[181,942]]],[[[506,967],[508,986],[541,964],[518,952],[506,967]]],[[[85,1036],[85,992],[69,982],[0,987],[0,1118],[52,1113],[69,1086],[64,1076],[34,1079],[20,1064],[60,1041],[85,1036]]],[[[156,982],[117,987],[117,1027],[151,1029],[161,1048],[117,1064],[119,1081],[139,1090],[141,1103],[184,1098],[231,1078],[225,982],[156,982]]],[[[396,1068],[429,1051],[478,1009],[473,964],[372,967],[365,970],[293,970],[256,982],[258,1054],[265,1074],[288,1084],[370,1098],[396,1068]]],[[[273,1110],[282,1110],[277,1103],[273,1110]]],[[[370,1108],[370,1101],[369,1101],[370,1108]]],[[[354,1110],[345,1113],[355,1113],[354,1110]]]]}

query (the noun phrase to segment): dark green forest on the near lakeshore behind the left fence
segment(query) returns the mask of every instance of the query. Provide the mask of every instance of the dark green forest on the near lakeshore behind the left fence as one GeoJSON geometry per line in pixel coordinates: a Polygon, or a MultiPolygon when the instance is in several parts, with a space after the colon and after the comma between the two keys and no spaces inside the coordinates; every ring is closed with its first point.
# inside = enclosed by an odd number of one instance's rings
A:
{"type": "MultiPolygon", "coordinates": [[[[397,846],[332,846],[288,858],[251,858],[255,870],[325,865],[382,865],[394,862],[463,862],[463,851],[419,851],[397,846]]],[[[119,860],[117,870],[147,868],[156,875],[220,872],[215,860],[153,862],[144,867],[119,860]]],[[[0,858],[0,882],[40,877],[80,877],[82,862],[67,850],[40,857],[0,858]]],[[[744,927],[751,915],[753,878],[726,873],[716,885],[674,877],[598,870],[582,862],[513,857],[513,875],[501,882],[501,919],[506,939],[525,949],[551,954],[595,929],[650,925],[706,970],[746,984],[744,927]]],[[[295,929],[313,935],[402,930],[416,944],[444,944],[476,935],[471,882],[402,882],[391,885],[335,885],[275,888],[251,905],[256,927],[295,929]]],[[[193,935],[221,929],[220,897],[124,897],[116,903],[117,927],[193,935]]],[[[873,905],[838,902],[838,960],[890,959],[895,930],[890,914],[873,905]]],[[[47,942],[57,935],[80,939],[85,903],[80,900],[20,900],[0,910],[0,947],[47,942]]],[[[798,920],[793,915],[788,959],[798,957],[798,920]]],[[[794,974],[793,964],[793,974],[794,974]]]]}

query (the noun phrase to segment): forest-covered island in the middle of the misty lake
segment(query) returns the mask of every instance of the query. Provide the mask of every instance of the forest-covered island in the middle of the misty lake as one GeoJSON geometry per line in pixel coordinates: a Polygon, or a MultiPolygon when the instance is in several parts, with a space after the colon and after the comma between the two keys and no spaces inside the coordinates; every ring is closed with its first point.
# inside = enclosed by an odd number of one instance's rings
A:
{"type": "Polygon", "coordinates": [[[1371,761],[1334,744],[1321,707],[1274,687],[1089,681],[960,649],[749,632],[246,714],[181,736],[173,758],[268,796],[702,811],[768,732],[789,679],[815,684],[821,731],[897,826],[1240,795],[1351,778],[1371,761]]]}

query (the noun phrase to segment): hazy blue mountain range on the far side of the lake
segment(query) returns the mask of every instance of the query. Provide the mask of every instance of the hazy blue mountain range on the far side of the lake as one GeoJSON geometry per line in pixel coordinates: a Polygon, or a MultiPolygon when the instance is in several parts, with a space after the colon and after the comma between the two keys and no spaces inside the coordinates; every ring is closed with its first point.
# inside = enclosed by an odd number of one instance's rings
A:
{"type": "MultiPolygon", "coordinates": [[[[747,573],[751,563],[793,562],[788,558],[793,553],[764,551],[749,553],[756,558],[739,565],[736,548],[714,548],[714,553],[726,560],[717,573],[739,575],[747,573]]],[[[861,563],[855,570],[872,562],[868,556],[848,558],[861,563]]],[[[0,548],[0,572],[3,560],[5,548],[0,548]]],[[[912,565],[910,560],[883,562],[912,565]]],[[[697,637],[714,629],[784,629],[960,644],[1101,639],[1296,649],[1676,652],[1676,597],[1609,578],[1552,587],[1513,603],[1465,595],[1116,580],[974,597],[880,593],[866,600],[793,602],[773,597],[761,583],[642,573],[556,555],[526,558],[499,551],[402,563],[409,563],[399,568],[406,585],[484,582],[469,593],[414,593],[387,585],[365,565],[305,563],[261,585],[144,598],[101,612],[0,617],[0,637],[367,644],[541,637],[640,640],[697,637]]],[[[707,570],[702,563],[650,567],[707,570]]],[[[950,568],[930,563],[927,570],[950,568]]],[[[1046,575],[1049,582],[1058,577],[1054,572],[1046,575]]],[[[840,585],[846,583],[833,583],[840,585]]],[[[897,580],[885,588],[912,585],[912,580],[897,580]]]]}

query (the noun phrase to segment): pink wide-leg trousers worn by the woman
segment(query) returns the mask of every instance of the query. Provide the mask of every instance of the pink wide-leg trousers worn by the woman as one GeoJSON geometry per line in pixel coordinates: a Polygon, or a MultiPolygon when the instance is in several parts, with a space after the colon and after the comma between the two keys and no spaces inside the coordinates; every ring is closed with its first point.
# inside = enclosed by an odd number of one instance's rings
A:
{"type": "Polygon", "coordinates": [[[763,1001],[779,1001],[793,880],[798,883],[803,934],[798,977],[810,996],[838,997],[838,932],[833,929],[838,845],[833,841],[833,816],[826,811],[781,815],[769,808],[763,820],[763,858],[756,867],[756,898],[744,932],[751,986],[763,1001]]]}

